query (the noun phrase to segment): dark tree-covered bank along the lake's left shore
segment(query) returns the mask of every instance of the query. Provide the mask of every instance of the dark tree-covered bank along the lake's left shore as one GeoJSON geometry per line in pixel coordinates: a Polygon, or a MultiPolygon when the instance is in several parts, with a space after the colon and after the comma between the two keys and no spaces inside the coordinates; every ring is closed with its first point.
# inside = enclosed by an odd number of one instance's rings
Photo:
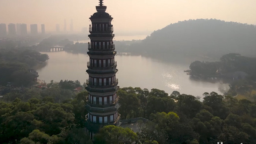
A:
{"type": "Polygon", "coordinates": [[[33,67],[48,60],[47,54],[34,50],[0,49],[0,85],[30,86],[38,73],[33,67]]]}

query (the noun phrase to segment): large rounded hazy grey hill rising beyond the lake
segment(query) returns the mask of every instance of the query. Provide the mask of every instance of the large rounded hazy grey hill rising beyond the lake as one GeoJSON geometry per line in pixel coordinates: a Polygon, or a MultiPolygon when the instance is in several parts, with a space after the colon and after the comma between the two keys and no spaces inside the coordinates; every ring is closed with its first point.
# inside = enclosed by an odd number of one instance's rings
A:
{"type": "MultiPolygon", "coordinates": [[[[182,53],[222,56],[256,54],[256,26],[217,19],[185,20],[156,30],[127,52],[182,53]]],[[[123,50],[121,50],[123,51],[123,50]]]]}

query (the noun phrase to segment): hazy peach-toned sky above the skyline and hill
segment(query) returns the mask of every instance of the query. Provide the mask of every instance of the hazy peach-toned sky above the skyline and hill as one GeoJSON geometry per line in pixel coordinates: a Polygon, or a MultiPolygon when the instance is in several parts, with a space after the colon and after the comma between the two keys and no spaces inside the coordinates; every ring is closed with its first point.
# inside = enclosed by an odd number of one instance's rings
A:
{"type": "MultiPolygon", "coordinates": [[[[170,23],[215,18],[256,24],[256,0],[104,0],[114,33],[150,34],[170,23]]],[[[0,0],[0,23],[45,24],[46,31],[89,27],[98,0],[0,0]]],[[[41,29],[41,26],[38,27],[41,29]]],[[[28,26],[29,30],[29,26],[28,26]]]]}

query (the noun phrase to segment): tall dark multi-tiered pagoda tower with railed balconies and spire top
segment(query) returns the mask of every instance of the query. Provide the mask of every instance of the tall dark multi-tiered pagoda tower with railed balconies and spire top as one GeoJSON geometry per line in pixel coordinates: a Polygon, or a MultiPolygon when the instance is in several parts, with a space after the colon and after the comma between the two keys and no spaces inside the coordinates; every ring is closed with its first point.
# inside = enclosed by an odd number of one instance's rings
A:
{"type": "Polygon", "coordinates": [[[103,0],[99,0],[96,6],[97,12],[91,17],[89,27],[89,38],[87,54],[90,61],[87,62],[87,87],[89,95],[87,97],[87,132],[92,138],[104,125],[118,124],[120,114],[118,114],[118,79],[116,78],[117,63],[114,61],[116,55],[113,44],[112,17],[106,13],[106,6],[103,0]]]}

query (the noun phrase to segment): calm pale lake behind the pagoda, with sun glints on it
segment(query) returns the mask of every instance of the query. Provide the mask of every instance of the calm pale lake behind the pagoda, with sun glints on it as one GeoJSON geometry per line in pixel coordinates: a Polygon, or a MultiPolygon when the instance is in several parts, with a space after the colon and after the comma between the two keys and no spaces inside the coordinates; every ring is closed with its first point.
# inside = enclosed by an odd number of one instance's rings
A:
{"type": "MultiPolygon", "coordinates": [[[[46,52],[42,52],[46,53],[46,52]]],[[[47,52],[49,60],[45,67],[37,69],[40,80],[49,83],[50,80],[60,82],[60,80],[79,80],[81,84],[86,82],[87,54],[74,54],[68,52],[47,52]]],[[[184,73],[189,68],[189,64],[181,64],[170,60],[162,62],[150,57],[132,56],[130,54],[117,54],[118,86],[120,87],[140,87],[157,88],[164,90],[168,94],[179,91],[181,94],[191,94],[202,96],[204,92],[221,93],[228,90],[228,84],[221,81],[211,83],[199,80],[192,80],[184,73]]]]}

